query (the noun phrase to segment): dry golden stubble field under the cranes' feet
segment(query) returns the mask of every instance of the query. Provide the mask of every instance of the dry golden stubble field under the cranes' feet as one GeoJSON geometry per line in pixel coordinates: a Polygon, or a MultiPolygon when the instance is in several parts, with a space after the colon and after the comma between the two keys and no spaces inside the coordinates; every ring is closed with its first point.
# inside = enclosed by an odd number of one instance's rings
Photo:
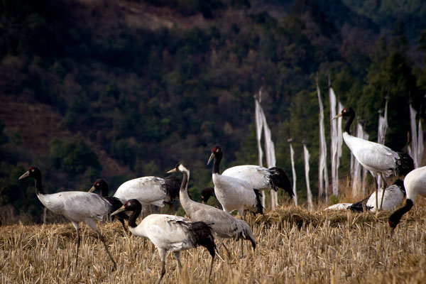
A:
{"type": "MultiPolygon", "coordinates": [[[[324,205],[318,205],[324,208],[324,205]]],[[[390,236],[389,212],[310,213],[279,207],[249,223],[255,252],[228,240],[230,260],[217,257],[212,283],[426,283],[426,202],[419,197],[390,236]]],[[[119,222],[99,224],[116,271],[97,234],[82,225],[75,269],[75,229],[71,223],[0,227],[1,283],[155,283],[160,258],[146,239],[125,233],[119,222]]],[[[170,254],[163,283],[205,283],[207,250],[182,253],[182,278],[170,254]]]]}

